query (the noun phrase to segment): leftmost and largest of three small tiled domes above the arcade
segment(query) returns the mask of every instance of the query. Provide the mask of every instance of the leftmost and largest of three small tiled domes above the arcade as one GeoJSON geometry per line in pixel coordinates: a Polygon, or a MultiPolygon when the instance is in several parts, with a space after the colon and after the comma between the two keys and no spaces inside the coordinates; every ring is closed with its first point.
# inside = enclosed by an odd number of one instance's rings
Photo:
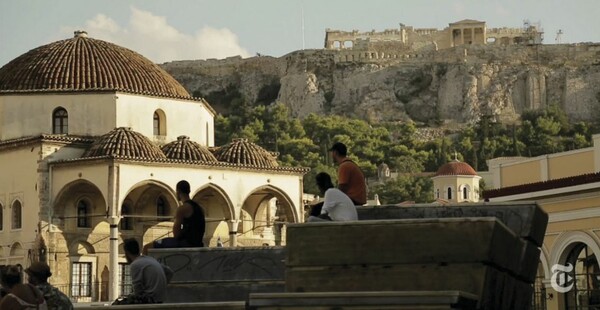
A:
{"type": "Polygon", "coordinates": [[[83,157],[117,156],[142,159],[165,159],[158,146],[129,127],[119,127],[101,136],[83,157]]]}

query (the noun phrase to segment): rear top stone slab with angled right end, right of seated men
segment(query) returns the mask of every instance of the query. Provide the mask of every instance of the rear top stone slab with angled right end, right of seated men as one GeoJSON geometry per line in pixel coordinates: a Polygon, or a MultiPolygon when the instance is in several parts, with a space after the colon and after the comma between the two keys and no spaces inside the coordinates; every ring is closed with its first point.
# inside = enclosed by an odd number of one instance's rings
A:
{"type": "Polygon", "coordinates": [[[548,214],[531,202],[418,204],[414,206],[375,206],[357,208],[360,220],[489,217],[498,218],[515,234],[542,246],[548,214]]]}

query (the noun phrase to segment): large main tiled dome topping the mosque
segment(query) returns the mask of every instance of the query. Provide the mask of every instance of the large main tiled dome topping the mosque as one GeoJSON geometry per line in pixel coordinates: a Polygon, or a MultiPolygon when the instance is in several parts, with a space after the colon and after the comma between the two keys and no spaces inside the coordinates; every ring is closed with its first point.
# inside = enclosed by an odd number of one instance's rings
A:
{"type": "Polygon", "coordinates": [[[0,92],[123,91],[191,98],[171,75],[144,56],[76,31],[0,68],[0,92]]]}

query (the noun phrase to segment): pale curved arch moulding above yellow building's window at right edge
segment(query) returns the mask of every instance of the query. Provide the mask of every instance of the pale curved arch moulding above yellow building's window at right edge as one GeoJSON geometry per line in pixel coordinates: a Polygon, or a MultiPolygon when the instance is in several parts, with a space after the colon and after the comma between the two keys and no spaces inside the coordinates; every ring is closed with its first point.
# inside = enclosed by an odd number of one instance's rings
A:
{"type": "Polygon", "coordinates": [[[564,264],[567,256],[579,243],[587,245],[596,257],[600,257],[600,241],[597,237],[584,231],[568,231],[560,234],[554,241],[550,254],[550,266],[564,264]]]}

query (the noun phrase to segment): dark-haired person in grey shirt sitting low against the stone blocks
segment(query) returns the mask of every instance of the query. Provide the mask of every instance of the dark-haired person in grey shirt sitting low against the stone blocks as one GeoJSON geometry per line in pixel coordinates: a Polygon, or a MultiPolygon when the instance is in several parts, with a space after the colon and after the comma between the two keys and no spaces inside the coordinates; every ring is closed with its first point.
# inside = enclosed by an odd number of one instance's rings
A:
{"type": "Polygon", "coordinates": [[[154,257],[140,255],[140,245],[134,238],[125,239],[123,249],[127,263],[131,264],[132,292],[117,299],[113,305],[162,303],[172,271],[154,257]]]}

